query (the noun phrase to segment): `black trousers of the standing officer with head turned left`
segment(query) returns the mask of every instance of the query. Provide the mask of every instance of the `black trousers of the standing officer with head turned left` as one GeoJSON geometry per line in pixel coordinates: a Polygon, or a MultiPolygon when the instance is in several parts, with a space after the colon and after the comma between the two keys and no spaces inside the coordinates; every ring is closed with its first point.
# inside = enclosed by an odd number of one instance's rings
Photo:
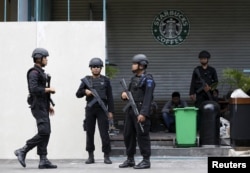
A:
{"type": "Polygon", "coordinates": [[[129,108],[124,124],[124,143],[126,146],[126,154],[128,157],[134,157],[136,154],[136,143],[140,149],[140,153],[144,158],[149,158],[151,156],[151,143],[150,143],[150,120],[146,118],[146,121],[142,123],[144,132],[142,132],[139,123],[137,123],[137,118],[129,108]]]}

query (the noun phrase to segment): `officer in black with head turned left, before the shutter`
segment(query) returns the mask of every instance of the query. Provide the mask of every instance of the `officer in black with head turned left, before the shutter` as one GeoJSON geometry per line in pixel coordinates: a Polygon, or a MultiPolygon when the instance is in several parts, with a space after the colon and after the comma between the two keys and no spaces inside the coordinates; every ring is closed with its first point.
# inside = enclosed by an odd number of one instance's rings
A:
{"type": "MultiPolygon", "coordinates": [[[[148,59],[144,54],[137,54],[132,59],[132,72],[128,90],[132,93],[137,105],[139,115],[136,117],[131,107],[127,109],[124,124],[124,143],[126,146],[127,160],[119,165],[119,168],[133,167],[134,169],[150,168],[151,143],[150,143],[150,107],[153,101],[155,82],[151,74],[146,73],[148,59]],[[143,131],[139,123],[143,126],[143,131]],[[140,148],[143,160],[135,165],[136,143],[140,148]]],[[[127,93],[121,94],[123,100],[127,100],[127,93]]]]}

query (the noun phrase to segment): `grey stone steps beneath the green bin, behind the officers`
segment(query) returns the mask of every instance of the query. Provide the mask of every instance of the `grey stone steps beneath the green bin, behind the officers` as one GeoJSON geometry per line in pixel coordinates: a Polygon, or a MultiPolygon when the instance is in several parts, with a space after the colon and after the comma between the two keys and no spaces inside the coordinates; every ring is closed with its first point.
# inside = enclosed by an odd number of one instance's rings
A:
{"type": "MultiPolygon", "coordinates": [[[[230,146],[229,139],[221,139],[219,146],[206,145],[200,146],[195,142],[190,145],[178,145],[175,142],[174,133],[151,133],[151,154],[152,156],[228,156],[230,146]]],[[[199,137],[196,137],[199,140],[199,137]]],[[[111,136],[112,156],[126,157],[123,136],[121,134],[111,136]]],[[[140,156],[139,148],[136,155],[140,156]]]]}

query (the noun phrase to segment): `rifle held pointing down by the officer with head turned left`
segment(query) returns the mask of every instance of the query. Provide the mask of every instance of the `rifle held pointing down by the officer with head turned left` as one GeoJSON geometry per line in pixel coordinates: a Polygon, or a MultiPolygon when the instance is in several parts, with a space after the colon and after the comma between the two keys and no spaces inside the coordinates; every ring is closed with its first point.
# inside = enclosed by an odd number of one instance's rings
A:
{"type": "MultiPolygon", "coordinates": [[[[128,104],[123,108],[123,112],[125,112],[127,110],[127,108],[131,106],[135,116],[137,117],[139,115],[139,111],[138,111],[138,109],[136,107],[135,100],[134,100],[134,98],[132,96],[132,93],[128,90],[125,79],[123,78],[120,81],[120,83],[121,83],[123,89],[125,90],[125,92],[127,93],[128,101],[129,101],[128,104]]],[[[139,122],[139,125],[140,125],[140,128],[141,128],[141,131],[144,132],[144,129],[143,129],[142,124],[140,122],[139,122]]]]}

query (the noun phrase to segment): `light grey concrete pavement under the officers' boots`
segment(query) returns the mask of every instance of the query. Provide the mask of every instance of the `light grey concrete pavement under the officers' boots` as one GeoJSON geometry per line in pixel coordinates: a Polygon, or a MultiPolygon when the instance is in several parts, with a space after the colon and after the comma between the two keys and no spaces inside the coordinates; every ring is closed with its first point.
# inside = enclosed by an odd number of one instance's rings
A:
{"type": "MultiPolygon", "coordinates": [[[[129,172],[157,172],[157,173],[207,173],[207,157],[152,157],[151,168],[136,170],[133,168],[119,168],[119,164],[125,157],[111,157],[113,164],[104,164],[103,159],[97,159],[94,164],[85,164],[85,159],[63,159],[51,160],[58,166],[57,169],[38,169],[39,160],[26,160],[26,168],[14,160],[0,160],[0,173],[128,173],[129,172]]],[[[135,158],[136,163],[141,161],[141,157],[135,158]]]]}

